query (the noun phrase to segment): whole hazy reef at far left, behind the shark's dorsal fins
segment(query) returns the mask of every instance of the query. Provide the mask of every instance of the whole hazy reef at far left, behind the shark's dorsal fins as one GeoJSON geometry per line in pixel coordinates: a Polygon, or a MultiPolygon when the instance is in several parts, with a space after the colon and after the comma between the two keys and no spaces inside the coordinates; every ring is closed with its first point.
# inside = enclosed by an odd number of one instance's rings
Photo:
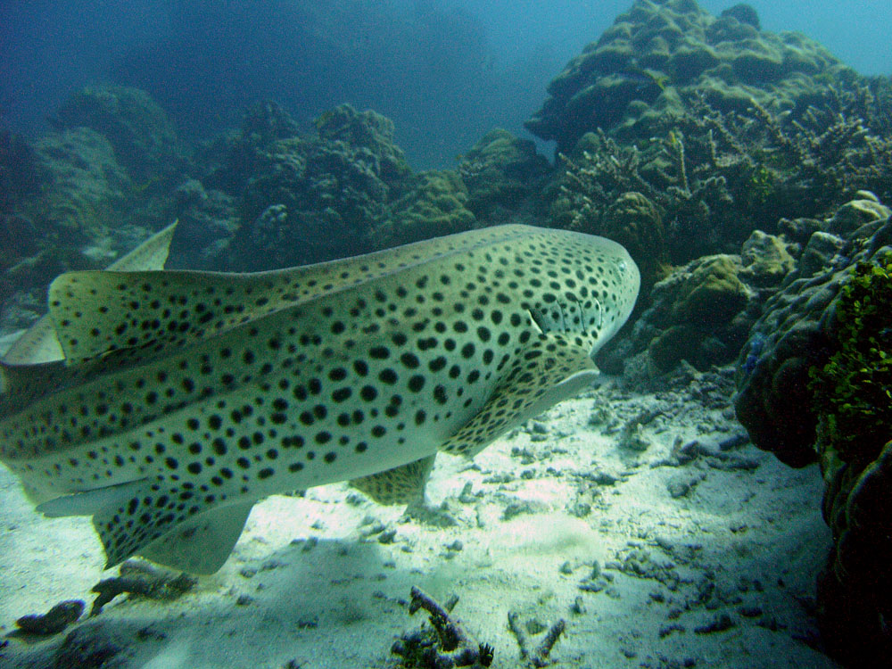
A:
{"type": "Polygon", "coordinates": [[[4,326],[26,326],[45,285],[107,265],[174,218],[169,193],[186,169],[164,111],[143,91],[91,87],[51,117],[53,132],[0,136],[0,297],[4,326]]]}

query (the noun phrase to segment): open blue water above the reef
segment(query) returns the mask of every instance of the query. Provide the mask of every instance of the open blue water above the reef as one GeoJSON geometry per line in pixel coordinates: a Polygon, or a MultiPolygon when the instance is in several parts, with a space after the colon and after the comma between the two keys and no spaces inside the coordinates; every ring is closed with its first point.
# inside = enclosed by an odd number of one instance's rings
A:
{"type": "MultiPolygon", "coordinates": [[[[0,4],[0,128],[36,133],[72,90],[142,87],[183,136],[259,98],[307,124],[343,102],[397,124],[413,167],[446,167],[493,126],[524,135],[545,87],[630,0],[36,0],[0,4]]],[[[734,4],[704,0],[718,13],[734,4]]],[[[864,74],[892,72],[887,0],[761,0],[864,74]]]]}

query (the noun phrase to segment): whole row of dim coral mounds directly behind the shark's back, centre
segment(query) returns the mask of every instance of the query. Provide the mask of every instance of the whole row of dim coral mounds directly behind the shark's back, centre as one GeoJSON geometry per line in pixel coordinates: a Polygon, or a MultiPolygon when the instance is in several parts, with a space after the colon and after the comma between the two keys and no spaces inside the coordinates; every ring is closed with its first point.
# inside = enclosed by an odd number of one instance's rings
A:
{"type": "Polygon", "coordinates": [[[281,136],[293,123],[272,103],[254,108],[208,178],[238,194],[241,220],[227,268],[297,265],[356,255],[508,221],[532,222],[548,162],[534,145],[493,130],[457,170],[413,174],[393,124],[341,105],[316,135],[281,136]]]}

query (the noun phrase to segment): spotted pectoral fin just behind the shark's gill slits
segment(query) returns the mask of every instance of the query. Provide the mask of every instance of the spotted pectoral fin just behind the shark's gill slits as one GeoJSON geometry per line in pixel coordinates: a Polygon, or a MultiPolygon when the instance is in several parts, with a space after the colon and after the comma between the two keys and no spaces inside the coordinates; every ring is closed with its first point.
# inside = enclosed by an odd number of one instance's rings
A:
{"type": "Polygon", "coordinates": [[[483,408],[440,450],[473,458],[500,434],[573,397],[599,374],[589,351],[556,333],[527,345],[483,408]]]}

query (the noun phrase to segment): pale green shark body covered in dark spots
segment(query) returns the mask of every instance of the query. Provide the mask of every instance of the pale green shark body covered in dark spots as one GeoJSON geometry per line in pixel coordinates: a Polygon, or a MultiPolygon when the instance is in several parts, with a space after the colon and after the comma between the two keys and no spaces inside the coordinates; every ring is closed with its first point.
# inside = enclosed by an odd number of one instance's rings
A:
{"type": "Polygon", "coordinates": [[[0,458],[47,508],[98,496],[109,566],[271,493],[403,500],[387,484],[438,450],[590,383],[638,288],[618,244],[525,226],[260,274],[62,275],[65,359],[4,365],[0,458]]]}

